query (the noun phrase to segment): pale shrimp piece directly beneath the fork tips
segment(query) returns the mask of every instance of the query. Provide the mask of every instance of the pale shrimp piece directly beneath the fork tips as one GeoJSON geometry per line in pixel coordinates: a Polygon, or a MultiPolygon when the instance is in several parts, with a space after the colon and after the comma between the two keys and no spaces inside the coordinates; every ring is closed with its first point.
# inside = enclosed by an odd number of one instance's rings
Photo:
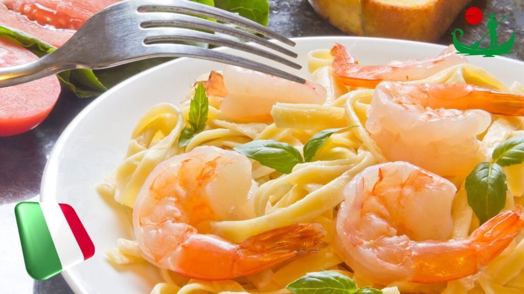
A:
{"type": "Polygon", "coordinates": [[[223,71],[228,95],[220,110],[241,121],[271,121],[271,108],[277,103],[323,104],[326,89],[312,82],[299,84],[280,77],[226,65],[223,71]]]}

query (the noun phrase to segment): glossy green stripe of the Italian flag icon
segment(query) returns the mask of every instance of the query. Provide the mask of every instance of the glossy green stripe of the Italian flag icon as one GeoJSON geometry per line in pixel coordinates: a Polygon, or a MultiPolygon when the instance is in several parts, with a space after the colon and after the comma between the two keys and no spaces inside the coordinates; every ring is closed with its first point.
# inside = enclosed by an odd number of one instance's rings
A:
{"type": "Polygon", "coordinates": [[[36,280],[61,273],[60,258],[40,203],[20,202],[15,207],[15,215],[27,273],[36,280]]]}

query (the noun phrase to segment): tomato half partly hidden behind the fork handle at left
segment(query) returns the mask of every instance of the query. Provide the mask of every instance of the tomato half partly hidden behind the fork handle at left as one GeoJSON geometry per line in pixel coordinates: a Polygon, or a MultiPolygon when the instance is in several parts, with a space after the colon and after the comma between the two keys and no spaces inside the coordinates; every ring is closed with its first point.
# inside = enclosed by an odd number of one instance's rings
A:
{"type": "MultiPolygon", "coordinates": [[[[0,38],[0,67],[31,62],[38,57],[29,50],[0,38]]],[[[0,88],[0,137],[29,131],[51,112],[60,94],[56,76],[0,88]]]]}

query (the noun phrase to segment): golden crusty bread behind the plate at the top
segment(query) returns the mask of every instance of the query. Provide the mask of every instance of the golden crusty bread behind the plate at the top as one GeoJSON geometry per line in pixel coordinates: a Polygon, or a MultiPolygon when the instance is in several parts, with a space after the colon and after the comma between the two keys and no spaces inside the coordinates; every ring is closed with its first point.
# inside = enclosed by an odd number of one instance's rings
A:
{"type": "Polygon", "coordinates": [[[309,0],[354,35],[436,41],[471,0],[309,0]]]}

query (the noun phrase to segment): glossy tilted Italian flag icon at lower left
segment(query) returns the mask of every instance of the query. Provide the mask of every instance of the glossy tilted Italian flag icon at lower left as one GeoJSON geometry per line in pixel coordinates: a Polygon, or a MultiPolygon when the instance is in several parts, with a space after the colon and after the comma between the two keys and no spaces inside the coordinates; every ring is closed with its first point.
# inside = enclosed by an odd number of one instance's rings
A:
{"type": "Polygon", "coordinates": [[[20,202],[15,207],[27,273],[45,280],[93,256],[95,247],[67,204],[20,202]]]}

